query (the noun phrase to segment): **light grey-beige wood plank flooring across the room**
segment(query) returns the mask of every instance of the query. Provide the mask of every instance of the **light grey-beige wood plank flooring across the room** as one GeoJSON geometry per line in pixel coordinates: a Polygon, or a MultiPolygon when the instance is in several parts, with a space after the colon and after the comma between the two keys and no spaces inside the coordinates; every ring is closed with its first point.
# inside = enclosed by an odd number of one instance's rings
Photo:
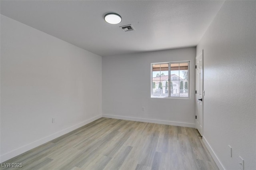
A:
{"type": "Polygon", "coordinates": [[[100,118],[6,163],[2,170],[218,170],[195,128],[100,118]]]}

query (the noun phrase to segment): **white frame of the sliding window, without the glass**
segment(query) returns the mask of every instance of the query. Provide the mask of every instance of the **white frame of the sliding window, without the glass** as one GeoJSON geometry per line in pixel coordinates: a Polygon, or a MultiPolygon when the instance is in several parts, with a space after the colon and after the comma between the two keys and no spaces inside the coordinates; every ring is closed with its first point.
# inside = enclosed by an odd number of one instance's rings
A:
{"type": "MultiPolygon", "coordinates": [[[[162,63],[151,63],[150,64],[150,67],[151,67],[151,79],[150,79],[150,89],[151,89],[151,98],[158,98],[158,99],[190,99],[190,87],[191,87],[191,83],[190,83],[190,61],[173,61],[173,62],[162,62],[162,63]],[[175,64],[175,63],[188,63],[188,97],[174,97],[174,96],[171,96],[171,91],[170,91],[170,88],[171,88],[171,79],[170,79],[170,76],[171,76],[171,70],[170,70],[170,65],[171,64],[175,64]],[[168,97],[166,96],[153,96],[153,65],[156,65],[156,64],[168,64],[168,97]]],[[[180,88],[180,87],[179,87],[180,88]]]]}

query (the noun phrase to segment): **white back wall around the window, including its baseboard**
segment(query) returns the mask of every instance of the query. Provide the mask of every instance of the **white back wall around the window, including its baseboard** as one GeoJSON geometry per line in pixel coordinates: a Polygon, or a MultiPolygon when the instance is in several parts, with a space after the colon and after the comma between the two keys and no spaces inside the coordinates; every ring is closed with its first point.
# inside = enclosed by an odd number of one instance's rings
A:
{"type": "Polygon", "coordinates": [[[195,47],[102,57],[103,117],[195,127],[195,57],[195,47]],[[191,61],[191,99],[150,98],[151,63],[185,60],[191,61]]]}

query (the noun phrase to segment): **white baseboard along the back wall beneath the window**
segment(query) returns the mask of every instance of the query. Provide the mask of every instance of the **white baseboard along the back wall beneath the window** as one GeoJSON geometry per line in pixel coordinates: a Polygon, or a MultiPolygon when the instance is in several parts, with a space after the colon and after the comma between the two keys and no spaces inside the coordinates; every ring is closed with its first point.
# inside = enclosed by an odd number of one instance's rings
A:
{"type": "Polygon", "coordinates": [[[163,124],[163,125],[173,125],[173,126],[180,126],[180,127],[192,127],[192,128],[196,127],[194,123],[163,121],[163,120],[157,120],[157,119],[145,119],[145,118],[138,118],[138,117],[126,117],[126,116],[116,116],[116,115],[107,115],[107,114],[103,114],[102,117],[113,118],[113,119],[122,119],[122,120],[127,120],[127,121],[158,123],[158,124],[163,124]]]}

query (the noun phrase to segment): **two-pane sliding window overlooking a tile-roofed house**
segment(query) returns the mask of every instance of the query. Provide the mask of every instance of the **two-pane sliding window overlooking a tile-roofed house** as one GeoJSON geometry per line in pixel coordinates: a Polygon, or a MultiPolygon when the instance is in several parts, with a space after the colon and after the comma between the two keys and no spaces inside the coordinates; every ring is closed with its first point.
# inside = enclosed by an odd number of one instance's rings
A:
{"type": "Polygon", "coordinates": [[[151,63],[151,97],[190,98],[190,61],[151,63]]]}

